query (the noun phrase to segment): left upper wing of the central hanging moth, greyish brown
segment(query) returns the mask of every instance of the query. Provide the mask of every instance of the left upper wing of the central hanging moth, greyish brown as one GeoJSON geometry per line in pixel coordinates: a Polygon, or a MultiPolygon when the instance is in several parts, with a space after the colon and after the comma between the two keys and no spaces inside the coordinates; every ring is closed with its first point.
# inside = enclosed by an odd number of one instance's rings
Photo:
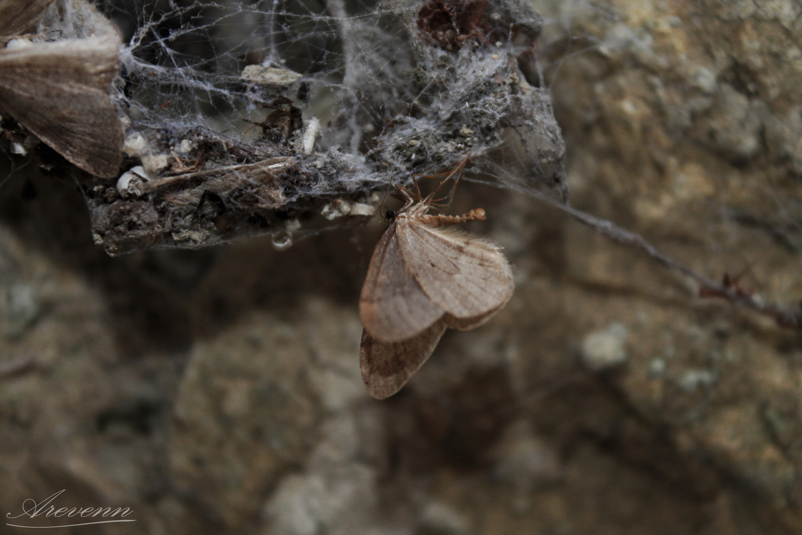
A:
{"type": "Polygon", "coordinates": [[[396,226],[387,227],[379,238],[359,297],[365,330],[382,342],[412,338],[443,317],[443,310],[431,302],[407,270],[396,226]]]}

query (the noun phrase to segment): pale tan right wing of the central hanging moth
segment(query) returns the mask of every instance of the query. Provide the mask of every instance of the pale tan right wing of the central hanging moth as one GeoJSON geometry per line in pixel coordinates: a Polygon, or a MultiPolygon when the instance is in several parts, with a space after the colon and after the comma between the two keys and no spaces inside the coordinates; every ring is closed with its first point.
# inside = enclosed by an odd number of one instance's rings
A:
{"type": "Polygon", "coordinates": [[[501,249],[458,230],[409,221],[399,225],[409,270],[435,305],[472,328],[507,304],[515,283],[501,249]]]}

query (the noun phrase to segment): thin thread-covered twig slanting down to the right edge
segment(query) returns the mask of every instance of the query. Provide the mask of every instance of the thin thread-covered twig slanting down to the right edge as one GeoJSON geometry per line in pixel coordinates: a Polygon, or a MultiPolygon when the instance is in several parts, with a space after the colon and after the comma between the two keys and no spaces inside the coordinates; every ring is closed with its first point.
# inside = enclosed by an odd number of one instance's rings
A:
{"type": "Polygon", "coordinates": [[[802,305],[796,309],[784,309],[780,305],[773,302],[764,302],[759,295],[749,294],[744,292],[738,285],[727,283],[728,279],[725,278],[724,282],[717,282],[711,278],[707,278],[699,272],[692,270],[687,265],[683,265],[673,258],[661,253],[654,245],[651,245],[640,234],[631,232],[630,230],[622,229],[612,221],[601,219],[599,217],[591,216],[589,213],[584,213],[581,210],[574,209],[568,205],[563,205],[553,199],[545,196],[540,192],[528,192],[533,197],[540,201],[545,202],[557,209],[567,213],[573,219],[579,221],[583,225],[588,225],[597,233],[609,237],[613,241],[617,241],[622,245],[641,249],[654,260],[658,261],[667,268],[678,271],[694,280],[699,285],[699,295],[702,297],[718,297],[727,299],[734,305],[745,306],[751,310],[756,310],[760,314],[764,314],[773,318],[777,325],[784,327],[791,327],[793,329],[802,330],[802,305]]]}

